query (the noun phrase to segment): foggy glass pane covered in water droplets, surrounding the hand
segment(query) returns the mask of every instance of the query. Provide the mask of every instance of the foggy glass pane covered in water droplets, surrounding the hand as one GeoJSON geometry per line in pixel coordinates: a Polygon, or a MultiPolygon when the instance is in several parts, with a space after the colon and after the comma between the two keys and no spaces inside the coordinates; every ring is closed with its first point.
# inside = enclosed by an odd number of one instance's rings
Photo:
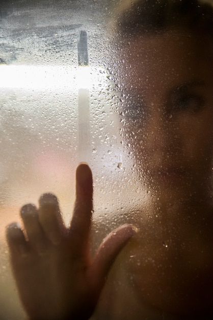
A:
{"type": "Polygon", "coordinates": [[[0,319],[21,320],[6,226],[93,172],[91,251],[117,257],[91,319],[212,316],[212,0],[0,4],[0,319]],[[189,2],[188,2],[189,3],[189,2]]]}

